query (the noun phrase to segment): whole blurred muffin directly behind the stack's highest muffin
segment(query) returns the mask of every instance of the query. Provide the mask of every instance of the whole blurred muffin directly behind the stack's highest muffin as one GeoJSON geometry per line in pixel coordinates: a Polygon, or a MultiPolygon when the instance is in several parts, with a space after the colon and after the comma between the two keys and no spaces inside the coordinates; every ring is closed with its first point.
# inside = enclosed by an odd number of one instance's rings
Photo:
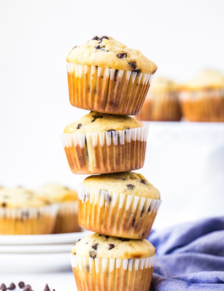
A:
{"type": "Polygon", "coordinates": [[[139,120],[179,121],[181,109],[179,104],[179,84],[171,79],[155,76],[145,98],[141,112],[136,115],[139,120]]]}

